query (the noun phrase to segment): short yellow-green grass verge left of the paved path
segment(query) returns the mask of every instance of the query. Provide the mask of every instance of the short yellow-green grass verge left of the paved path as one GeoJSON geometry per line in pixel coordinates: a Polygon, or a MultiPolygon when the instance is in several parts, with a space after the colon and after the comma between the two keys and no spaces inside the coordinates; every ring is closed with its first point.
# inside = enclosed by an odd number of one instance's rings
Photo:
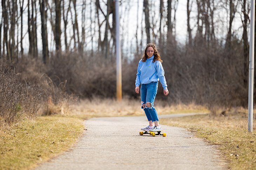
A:
{"type": "Polygon", "coordinates": [[[0,169],[30,169],[72,146],[83,132],[82,120],[43,116],[0,130],[0,169]]]}

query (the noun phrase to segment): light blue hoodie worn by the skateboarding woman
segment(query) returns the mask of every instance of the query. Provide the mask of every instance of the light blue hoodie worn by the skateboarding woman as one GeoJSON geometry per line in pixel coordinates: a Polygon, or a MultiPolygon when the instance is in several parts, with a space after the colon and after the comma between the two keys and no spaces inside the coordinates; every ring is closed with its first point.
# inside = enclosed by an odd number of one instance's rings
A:
{"type": "Polygon", "coordinates": [[[153,62],[153,59],[154,56],[148,58],[146,62],[142,62],[142,59],[139,61],[135,86],[160,80],[163,89],[167,89],[162,63],[158,60],[153,62]]]}

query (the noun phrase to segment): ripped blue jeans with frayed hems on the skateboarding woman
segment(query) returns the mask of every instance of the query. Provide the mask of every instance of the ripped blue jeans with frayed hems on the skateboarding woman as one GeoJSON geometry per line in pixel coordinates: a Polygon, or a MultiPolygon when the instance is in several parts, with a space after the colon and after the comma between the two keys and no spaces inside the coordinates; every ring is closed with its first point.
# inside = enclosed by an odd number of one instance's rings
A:
{"type": "Polygon", "coordinates": [[[141,84],[140,95],[141,95],[141,105],[146,103],[151,103],[151,107],[148,108],[147,106],[143,109],[144,110],[148,121],[159,121],[157,116],[156,109],[154,107],[154,101],[157,93],[158,82],[151,82],[148,84],[141,84]]]}

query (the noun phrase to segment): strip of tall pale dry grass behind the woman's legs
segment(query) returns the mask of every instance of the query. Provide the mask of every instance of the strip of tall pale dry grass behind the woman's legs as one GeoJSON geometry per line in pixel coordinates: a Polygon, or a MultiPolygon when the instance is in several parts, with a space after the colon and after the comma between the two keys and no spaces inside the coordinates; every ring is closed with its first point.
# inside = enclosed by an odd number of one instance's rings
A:
{"type": "MultiPolygon", "coordinates": [[[[191,112],[209,112],[203,106],[191,103],[189,105],[176,104],[163,106],[161,101],[155,104],[158,114],[172,114],[172,113],[191,113],[191,112]]],[[[73,105],[76,117],[83,119],[92,117],[110,117],[110,116],[144,116],[144,111],[141,110],[140,99],[123,98],[122,101],[116,99],[93,98],[92,100],[84,99],[78,104],[73,105]]]]}

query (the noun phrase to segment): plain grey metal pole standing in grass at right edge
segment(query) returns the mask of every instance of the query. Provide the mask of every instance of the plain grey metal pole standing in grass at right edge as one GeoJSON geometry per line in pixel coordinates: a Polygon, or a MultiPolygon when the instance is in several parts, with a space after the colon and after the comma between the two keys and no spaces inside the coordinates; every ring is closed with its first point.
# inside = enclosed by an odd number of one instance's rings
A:
{"type": "Polygon", "coordinates": [[[253,80],[254,80],[254,16],[255,0],[251,0],[250,57],[249,57],[249,94],[248,94],[248,131],[252,132],[253,80]]]}

